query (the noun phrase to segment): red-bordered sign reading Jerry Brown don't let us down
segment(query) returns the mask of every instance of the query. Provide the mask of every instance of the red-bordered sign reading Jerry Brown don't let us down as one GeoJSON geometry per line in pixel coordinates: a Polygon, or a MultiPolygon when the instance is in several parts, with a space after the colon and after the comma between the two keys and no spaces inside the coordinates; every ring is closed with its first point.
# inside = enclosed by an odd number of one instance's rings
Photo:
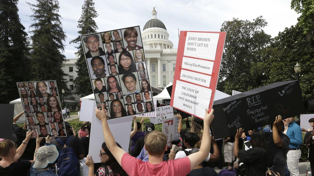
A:
{"type": "Polygon", "coordinates": [[[202,119],[210,111],[225,38],[225,32],[180,32],[171,106],[202,119]]]}

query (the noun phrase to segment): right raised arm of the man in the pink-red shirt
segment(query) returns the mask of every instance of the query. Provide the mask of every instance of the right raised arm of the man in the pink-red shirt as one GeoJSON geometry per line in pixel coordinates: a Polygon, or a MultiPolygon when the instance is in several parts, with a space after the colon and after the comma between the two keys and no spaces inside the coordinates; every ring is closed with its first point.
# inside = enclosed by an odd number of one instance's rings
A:
{"type": "Polygon", "coordinates": [[[214,113],[214,109],[212,109],[209,114],[208,114],[208,110],[205,109],[204,130],[203,130],[203,138],[201,142],[201,147],[198,152],[192,153],[191,155],[187,156],[191,162],[191,170],[193,170],[196,166],[202,163],[209,154],[209,151],[210,151],[209,125],[214,119],[213,113],[214,113]]]}

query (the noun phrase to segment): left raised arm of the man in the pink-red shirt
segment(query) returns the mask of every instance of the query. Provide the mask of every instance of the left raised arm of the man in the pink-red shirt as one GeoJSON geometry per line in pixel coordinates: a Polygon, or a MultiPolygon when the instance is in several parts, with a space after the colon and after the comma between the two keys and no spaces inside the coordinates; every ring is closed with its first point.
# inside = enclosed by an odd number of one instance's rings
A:
{"type": "Polygon", "coordinates": [[[101,110],[95,108],[96,117],[101,121],[102,130],[104,134],[104,139],[106,141],[106,145],[112,155],[116,158],[117,162],[121,165],[121,159],[124,153],[126,153],[122,148],[118,147],[113,137],[108,123],[107,123],[107,114],[105,112],[105,104],[102,105],[101,110]]]}

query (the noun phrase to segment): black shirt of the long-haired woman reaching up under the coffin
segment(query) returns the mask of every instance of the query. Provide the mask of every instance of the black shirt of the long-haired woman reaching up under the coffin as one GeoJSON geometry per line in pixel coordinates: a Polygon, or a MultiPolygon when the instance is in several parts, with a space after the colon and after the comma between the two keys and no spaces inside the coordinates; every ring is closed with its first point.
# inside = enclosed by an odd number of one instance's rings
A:
{"type": "Polygon", "coordinates": [[[238,157],[246,164],[246,175],[264,176],[267,168],[267,152],[263,148],[253,147],[248,150],[240,150],[238,157]]]}

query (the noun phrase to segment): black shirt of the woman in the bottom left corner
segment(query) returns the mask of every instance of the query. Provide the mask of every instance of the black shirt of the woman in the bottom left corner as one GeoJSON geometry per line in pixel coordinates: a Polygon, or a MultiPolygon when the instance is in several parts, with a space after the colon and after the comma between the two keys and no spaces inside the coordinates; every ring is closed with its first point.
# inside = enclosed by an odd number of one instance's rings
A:
{"type": "Polygon", "coordinates": [[[14,163],[11,163],[8,167],[0,166],[0,175],[1,176],[24,176],[27,171],[30,169],[32,163],[26,160],[20,160],[14,163]]]}

